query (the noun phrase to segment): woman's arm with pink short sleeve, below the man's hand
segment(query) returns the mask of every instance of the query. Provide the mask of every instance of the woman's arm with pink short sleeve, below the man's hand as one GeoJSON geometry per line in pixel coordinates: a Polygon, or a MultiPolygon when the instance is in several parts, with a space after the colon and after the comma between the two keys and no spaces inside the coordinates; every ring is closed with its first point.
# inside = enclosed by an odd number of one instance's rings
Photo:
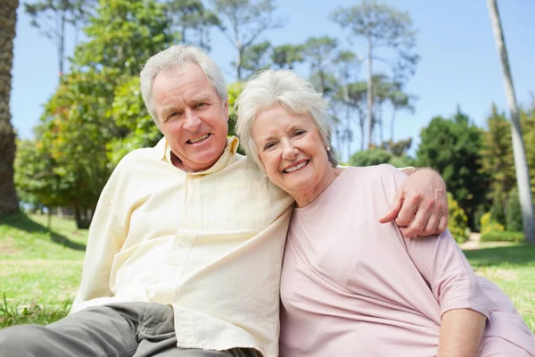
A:
{"type": "MultiPolygon", "coordinates": [[[[391,170],[391,179],[394,182],[387,191],[389,203],[407,178],[399,170],[391,170]]],[[[440,236],[417,238],[403,237],[397,230],[411,261],[440,304],[439,355],[477,355],[492,304],[482,292],[465,254],[449,230],[440,236]]]]}

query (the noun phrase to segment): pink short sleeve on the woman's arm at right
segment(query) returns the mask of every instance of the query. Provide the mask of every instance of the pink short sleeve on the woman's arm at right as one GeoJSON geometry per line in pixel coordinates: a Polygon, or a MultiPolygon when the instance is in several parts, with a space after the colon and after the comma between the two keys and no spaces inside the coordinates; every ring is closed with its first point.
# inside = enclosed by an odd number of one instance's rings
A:
{"type": "MultiPolygon", "coordinates": [[[[383,174],[383,187],[389,204],[406,179],[404,173],[393,167],[388,174],[383,174]]],[[[472,266],[449,229],[440,236],[416,238],[403,237],[397,226],[396,229],[416,269],[440,303],[440,315],[453,309],[470,309],[489,318],[492,311],[490,299],[482,292],[472,266]]]]}

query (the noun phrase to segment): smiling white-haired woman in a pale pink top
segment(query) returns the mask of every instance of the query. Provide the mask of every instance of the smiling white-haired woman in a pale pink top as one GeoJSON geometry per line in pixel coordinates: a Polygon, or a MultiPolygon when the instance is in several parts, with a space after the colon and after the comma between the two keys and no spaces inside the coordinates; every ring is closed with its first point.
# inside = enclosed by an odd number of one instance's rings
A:
{"type": "Polygon", "coordinates": [[[337,166],[326,103],[292,71],[264,71],[238,102],[238,135],[292,195],[280,353],[294,356],[535,356],[506,295],[476,277],[449,231],[403,237],[378,222],[406,179],[337,166]]]}

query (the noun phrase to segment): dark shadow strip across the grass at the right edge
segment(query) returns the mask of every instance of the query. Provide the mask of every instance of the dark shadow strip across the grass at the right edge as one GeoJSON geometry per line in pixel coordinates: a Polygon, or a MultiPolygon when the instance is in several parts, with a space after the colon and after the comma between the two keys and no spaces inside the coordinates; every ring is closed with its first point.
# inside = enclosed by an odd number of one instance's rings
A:
{"type": "Polygon", "coordinates": [[[534,265],[534,245],[514,245],[464,251],[473,267],[488,267],[500,264],[534,265]]]}

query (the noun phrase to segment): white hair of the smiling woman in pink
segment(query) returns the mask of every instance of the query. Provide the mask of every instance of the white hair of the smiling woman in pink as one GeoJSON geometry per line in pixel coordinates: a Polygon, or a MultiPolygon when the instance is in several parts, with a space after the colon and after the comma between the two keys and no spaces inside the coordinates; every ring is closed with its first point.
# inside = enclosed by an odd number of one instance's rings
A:
{"type": "MultiPolygon", "coordinates": [[[[292,71],[267,70],[249,79],[242,94],[236,100],[238,120],[236,134],[240,137],[247,157],[264,170],[257,147],[252,140],[252,124],[260,112],[280,104],[294,114],[307,113],[314,121],[325,146],[331,146],[331,127],[327,114],[327,101],[312,84],[292,71]]],[[[327,151],[329,162],[336,167],[338,161],[331,148],[327,151]]]]}

